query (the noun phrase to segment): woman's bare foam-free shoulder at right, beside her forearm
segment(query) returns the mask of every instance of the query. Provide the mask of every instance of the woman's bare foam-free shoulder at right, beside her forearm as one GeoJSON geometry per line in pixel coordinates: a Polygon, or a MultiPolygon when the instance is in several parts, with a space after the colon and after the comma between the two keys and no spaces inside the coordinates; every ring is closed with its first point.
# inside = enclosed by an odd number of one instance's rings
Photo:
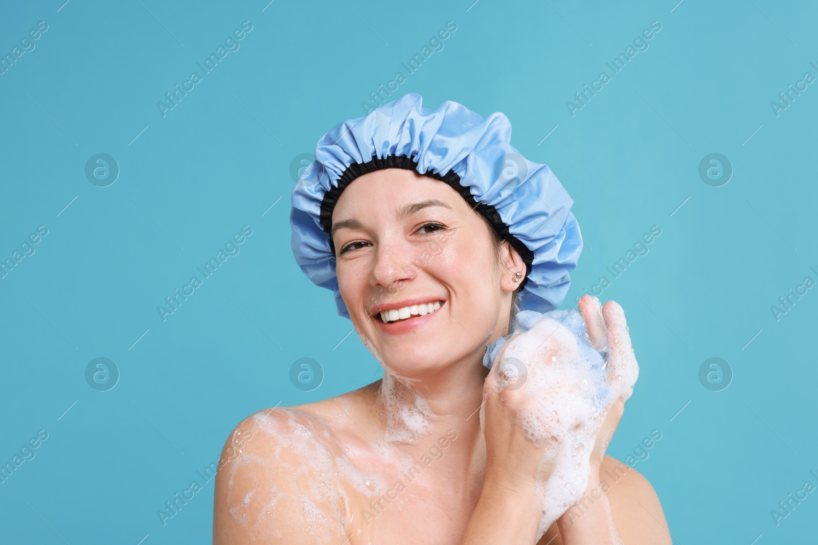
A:
{"type": "Polygon", "coordinates": [[[608,496],[613,523],[628,545],[670,545],[662,504],[650,482],[639,471],[605,455],[600,487],[608,496]]]}

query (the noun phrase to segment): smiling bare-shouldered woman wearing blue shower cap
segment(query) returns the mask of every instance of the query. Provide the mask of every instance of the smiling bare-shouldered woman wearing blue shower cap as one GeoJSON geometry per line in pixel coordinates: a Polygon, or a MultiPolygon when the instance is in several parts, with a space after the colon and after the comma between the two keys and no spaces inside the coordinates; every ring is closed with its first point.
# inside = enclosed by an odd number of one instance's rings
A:
{"type": "MultiPolygon", "coordinates": [[[[503,114],[433,111],[411,93],[318,142],[293,192],[294,254],[384,377],[241,422],[222,452],[213,543],[671,543],[648,481],[605,456],[629,391],[544,442],[520,425],[533,398],[509,386],[498,340],[519,307],[560,306],[582,239],[560,182],[509,139],[503,114]],[[565,480],[555,456],[573,451],[582,475],[546,497],[565,480]]],[[[579,307],[609,369],[627,364],[621,307],[579,307]]],[[[548,361],[521,362],[532,373],[577,353],[562,330],[537,342],[548,361]]]]}

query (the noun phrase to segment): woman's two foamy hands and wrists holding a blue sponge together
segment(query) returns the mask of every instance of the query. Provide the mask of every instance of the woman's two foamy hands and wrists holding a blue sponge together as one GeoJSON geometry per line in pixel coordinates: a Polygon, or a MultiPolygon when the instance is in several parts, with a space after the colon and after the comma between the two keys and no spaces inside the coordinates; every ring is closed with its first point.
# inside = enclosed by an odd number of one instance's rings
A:
{"type": "MultiPolygon", "coordinates": [[[[540,538],[598,485],[605,449],[638,374],[622,307],[609,302],[602,310],[598,301],[584,297],[582,316],[571,312],[541,319],[510,337],[483,386],[486,473],[475,514],[501,505],[514,513],[512,526],[523,525],[523,542],[540,538]],[[583,321],[591,346],[582,338],[583,321]],[[605,351],[607,363],[600,355],[605,351]]],[[[582,528],[589,524],[613,535],[609,513],[587,517],[582,528]]],[[[593,543],[584,541],[585,535],[564,543],[593,543]]]]}

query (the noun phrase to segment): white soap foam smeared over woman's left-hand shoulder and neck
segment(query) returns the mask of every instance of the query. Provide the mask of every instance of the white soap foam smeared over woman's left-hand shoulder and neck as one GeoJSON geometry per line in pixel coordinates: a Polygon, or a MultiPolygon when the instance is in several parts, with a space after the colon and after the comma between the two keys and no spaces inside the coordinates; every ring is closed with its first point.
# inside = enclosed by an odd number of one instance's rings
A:
{"type": "MultiPolygon", "coordinates": [[[[303,517],[303,529],[316,538],[316,543],[331,545],[337,536],[361,534],[364,527],[375,530],[364,523],[359,512],[350,511],[349,505],[367,505],[393,489],[396,479],[404,478],[402,472],[413,462],[397,443],[422,436],[430,415],[423,397],[409,386],[409,379],[384,373],[384,382],[380,403],[394,416],[388,418],[384,436],[375,440],[339,440],[330,432],[326,419],[298,409],[262,411],[249,419],[253,437],[248,443],[268,436],[274,440],[272,448],[250,453],[245,444],[244,452],[232,458],[225,470],[229,512],[252,539],[281,537],[291,531],[281,516],[276,516],[276,509],[292,509],[294,505],[303,517]],[[275,485],[258,486],[239,496],[233,487],[242,468],[252,471],[250,475],[285,473],[288,485],[285,490],[275,485]]],[[[348,413],[345,400],[337,401],[341,413],[348,413]]]]}

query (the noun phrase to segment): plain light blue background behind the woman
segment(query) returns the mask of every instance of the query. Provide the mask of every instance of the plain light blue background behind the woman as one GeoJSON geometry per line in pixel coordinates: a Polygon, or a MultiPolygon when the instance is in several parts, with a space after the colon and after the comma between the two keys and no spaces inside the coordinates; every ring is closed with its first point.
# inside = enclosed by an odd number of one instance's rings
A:
{"type": "Polygon", "coordinates": [[[816,494],[778,526],[770,514],[818,485],[818,290],[771,312],[818,280],[818,88],[778,117],[770,104],[818,76],[814,3],[63,1],[0,17],[2,54],[48,25],[0,75],[0,257],[48,229],[0,279],[0,462],[48,433],[0,484],[0,541],[209,542],[212,480],[166,525],[156,511],[236,423],[380,376],[294,262],[290,163],[448,20],[443,51],[392,98],[510,118],[512,144],[575,201],[586,248],[566,305],[662,229],[601,296],[624,307],[641,369],[609,453],[661,431],[635,467],[674,543],[814,539],[816,494]],[[245,20],[240,49],[163,117],[157,101],[245,20]],[[572,117],[566,101],[654,20],[649,49],[572,117]],[[97,153],[121,168],[109,187],[84,175],[97,153]],[[710,153],[730,159],[726,185],[699,178],[710,153]],[[245,225],[240,253],[163,322],[156,306],[245,225]],[[119,367],[110,391],[85,381],[97,357],[119,367]],[[326,373],[315,391],[290,383],[302,357],[326,373]],[[724,391],[699,382],[711,357],[735,373],[724,391]]]}

